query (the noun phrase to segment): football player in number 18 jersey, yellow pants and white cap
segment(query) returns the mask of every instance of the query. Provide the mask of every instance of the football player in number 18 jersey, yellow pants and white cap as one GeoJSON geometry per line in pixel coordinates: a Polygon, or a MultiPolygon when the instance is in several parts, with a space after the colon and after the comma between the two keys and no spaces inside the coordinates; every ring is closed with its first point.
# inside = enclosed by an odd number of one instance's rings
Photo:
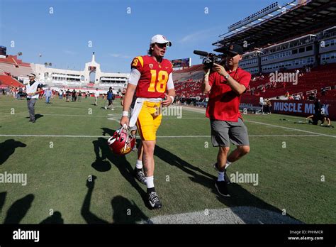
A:
{"type": "MultiPolygon", "coordinates": [[[[136,121],[142,140],[142,164],[147,185],[147,199],[150,207],[162,207],[154,187],[154,148],[157,128],[161,124],[161,106],[169,106],[174,101],[175,89],[172,79],[172,63],[164,59],[167,47],[172,43],[163,35],[155,35],[150,40],[149,55],[135,57],[131,63],[130,79],[123,100],[121,126],[133,126],[136,121]],[[129,119],[129,109],[133,95],[137,100],[129,119]]],[[[137,172],[142,172],[142,164],[137,163],[137,172]]]]}

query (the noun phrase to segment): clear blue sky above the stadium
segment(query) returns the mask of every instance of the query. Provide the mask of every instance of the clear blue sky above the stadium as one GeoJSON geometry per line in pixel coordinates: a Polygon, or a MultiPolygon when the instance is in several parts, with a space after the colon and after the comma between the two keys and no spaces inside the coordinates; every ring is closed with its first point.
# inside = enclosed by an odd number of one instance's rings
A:
{"type": "Polygon", "coordinates": [[[173,44],[165,58],[191,57],[195,65],[201,60],[194,50],[212,51],[211,43],[230,24],[273,2],[0,0],[0,45],[10,55],[22,52],[25,62],[75,70],[83,70],[94,51],[103,72],[129,72],[132,58],[145,55],[150,38],[159,33],[173,44]]]}

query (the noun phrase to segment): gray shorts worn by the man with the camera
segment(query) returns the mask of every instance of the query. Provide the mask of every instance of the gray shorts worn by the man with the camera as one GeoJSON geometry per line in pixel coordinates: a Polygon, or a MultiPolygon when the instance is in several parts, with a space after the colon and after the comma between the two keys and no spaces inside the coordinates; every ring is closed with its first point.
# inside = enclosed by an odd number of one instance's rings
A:
{"type": "Polygon", "coordinates": [[[247,128],[242,121],[237,122],[210,120],[211,142],[214,147],[230,147],[230,141],[235,146],[250,146],[247,128]]]}

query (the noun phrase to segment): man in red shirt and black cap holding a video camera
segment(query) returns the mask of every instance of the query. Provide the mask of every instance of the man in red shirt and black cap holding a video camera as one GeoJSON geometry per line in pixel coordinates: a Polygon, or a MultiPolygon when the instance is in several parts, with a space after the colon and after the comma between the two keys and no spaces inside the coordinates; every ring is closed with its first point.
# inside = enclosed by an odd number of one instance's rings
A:
{"type": "Polygon", "coordinates": [[[211,69],[205,68],[201,90],[205,94],[210,92],[206,116],[211,123],[212,144],[219,146],[217,163],[214,165],[218,170],[215,188],[220,195],[230,197],[227,187],[230,180],[226,169],[250,152],[247,128],[242,121],[239,105],[240,95],[249,86],[251,74],[238,67],[243,53],[240,45],[230,45],[221,52],[227,55],[226,60],[222,59],[220,65],[214,63],[211,69]],[[228,155],[230,141],[237,148],[228,155]]]}

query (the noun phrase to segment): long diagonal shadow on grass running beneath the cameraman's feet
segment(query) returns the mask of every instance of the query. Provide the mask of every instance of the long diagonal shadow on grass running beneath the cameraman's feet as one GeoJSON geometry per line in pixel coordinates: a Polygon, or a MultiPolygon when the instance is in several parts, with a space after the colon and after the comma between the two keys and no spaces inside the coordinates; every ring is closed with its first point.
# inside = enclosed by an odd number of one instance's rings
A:
{"type": "MultiPolygon", "coordinates": [[[[248,212],[242,212],[242,210],[240,210],[241,206],[256,207],[257,209],[267,209],[271,212],[276,212],[277,214],[282,213],[280,209],[277,209],[271,204],[267,204],[266,202],[262,201],[262,199],[255,197],[253,194],[235,183],[228,185],[228,190],[231,194],[231,197],[220,197],[218,196],[218,192],[215,190],[215,181],[217,180],[217,177],[215,177],[214,175],[204,172],[200,168],[197,168],[196,166],[187,163],[185,160],[182,160],[177,155],[170,153],[168,150],[161,148],[160,146],[155,146],[155,155],[163,160],[165,163],[173,165],[186,172],[188,175],[191,175],[191,177],[189,178],[192,182],[196,182],[200,185],[203,185],[204,187],[208,187],[209,189],[211,189],[211,191],[217,195],[218,201],[225,204],[225,206],[230,207],[230,209],[232,209],[233,212],[240,217],[240,219],[248,224],[259,224],[261,222],[259,222],[258,219],[252,219],[253,216],[249,215],[248,212]],[[235,211],[235,209],[237,210],[235,211]]],[[[289,215],[287,214],[287,216],[289,215]]],[[[296,220],[292,216],[290,217],[296,220]]]]}

